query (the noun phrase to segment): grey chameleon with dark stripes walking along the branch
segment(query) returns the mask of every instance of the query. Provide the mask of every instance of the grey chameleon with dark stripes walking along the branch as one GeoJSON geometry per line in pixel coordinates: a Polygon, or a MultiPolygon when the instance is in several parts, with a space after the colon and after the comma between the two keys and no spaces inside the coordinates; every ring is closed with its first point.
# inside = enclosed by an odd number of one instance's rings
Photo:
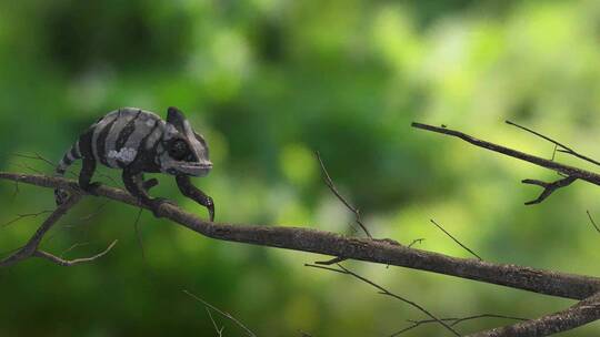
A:
{"type": "MultiPolygon", "coordinates": [[[[67,168],[82,160],[79,174],[81,190],[96,194],[100,183],[91,178],[97,163],[121,168],[124,186],[131,195],[148,205],[154,216],[162,203],[152,198],[148,191],[158,184],[156,178],[144,181],[144,173],[167,173],[176,176],[181,193],[207,207],[210,221],[214,219],[212,198],[191,184],[190,176],[204,176],[212,168],[204,139],[196,133],[186,116],[177,108],[169,108],[167,121],[157,114],[137,108],[112,111],[92,124],[64,154],[57,167],[63,176],[67,168]]],[[[68,193],[54,191],[57,204],[62,204],[68,193]]]]}

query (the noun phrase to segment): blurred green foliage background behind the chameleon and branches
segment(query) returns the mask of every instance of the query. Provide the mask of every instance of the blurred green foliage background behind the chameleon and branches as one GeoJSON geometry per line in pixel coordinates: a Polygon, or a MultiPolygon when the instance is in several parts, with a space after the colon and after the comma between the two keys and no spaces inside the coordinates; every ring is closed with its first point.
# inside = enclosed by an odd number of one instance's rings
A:
{"type": "MultiPolygon", "coordinates": [[[[598,274],[600,190],[584,183],[526,207],[552,172],[410,127],[447,124],[550,157],[529,125],[600,156],[600,2],[589,1],[0,1],[0,167],[51,173],[16,153],[58,160],[119,106],[183,110],[213,172],[196,183],[217,219],[352,234],[339,188],[378,237],[468,257],[433,217],[486,259],[598,274]]],[[[558,160],[582,167],[566,155],[558,160]]],[[[118,172],[106,168],[114,177],[118,172]]],[[[106,177],[101,181],[113,184],[106,177]]],[[[182,198],[160,176],[154,195],[182,198]]],[[[0,184],[6,224],[51,210],[50,190],[0,184]]],[[[343,275],[321,256],[207,239],[132,207],[88,198],[44,242],[100,261],[30,259],[0,270],[0,336],[216,336],[189,289],[259,336],[386,336],[423,316],[343,275]],[[97,214],[91,219],[86,216],[97,214]]],[[[0,228],[3,255],[41,216],[0,228]]],[[[572,302],[403,268],[348,263],[438,316],[537,317],[572,302]]],[[[221,317],[224,336],[242,331],[221,317]]],[[[481,319],[462,333],[507,324],[481,319]]],[[[441,336],[436,326],[407,336],[441,336]]],[[[564,336],[594,336],[590,325],[564,336]]]]}

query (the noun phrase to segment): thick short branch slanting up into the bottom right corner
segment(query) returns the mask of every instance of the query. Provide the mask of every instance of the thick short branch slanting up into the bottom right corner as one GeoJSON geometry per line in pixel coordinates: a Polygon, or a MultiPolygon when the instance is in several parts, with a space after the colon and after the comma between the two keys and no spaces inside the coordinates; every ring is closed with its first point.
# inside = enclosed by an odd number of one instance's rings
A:
{"type": "Polygon", "coordinates": [[[470,335],[471,337],[538,337],[574,329],[600,319],[600,294],[537,319],[470,335]]]}

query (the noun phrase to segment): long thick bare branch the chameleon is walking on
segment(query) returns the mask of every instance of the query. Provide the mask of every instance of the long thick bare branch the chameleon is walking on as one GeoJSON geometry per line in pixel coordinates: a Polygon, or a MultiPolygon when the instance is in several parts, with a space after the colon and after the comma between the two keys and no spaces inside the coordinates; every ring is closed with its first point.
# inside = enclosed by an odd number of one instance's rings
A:
{"type": "MultiPolygon", "coordinates": [[[[59,177],[0,173],[0,178],[50,188],[79,191],[74,181],[59,177]]],[[[114,201],[144,207],[134,197],[119,188],[101,186],[97,192],[114,201]]],[[[494,264],[472,258],[457,258],[394,245],[386,241],[347,237],[310,228],[209,223],[170,204],[163,204],[160,213],[189,229],[222,241],[421,269],[574,299],[583,299],[600,292],[600,278],[590,276],[494,264]]]]}

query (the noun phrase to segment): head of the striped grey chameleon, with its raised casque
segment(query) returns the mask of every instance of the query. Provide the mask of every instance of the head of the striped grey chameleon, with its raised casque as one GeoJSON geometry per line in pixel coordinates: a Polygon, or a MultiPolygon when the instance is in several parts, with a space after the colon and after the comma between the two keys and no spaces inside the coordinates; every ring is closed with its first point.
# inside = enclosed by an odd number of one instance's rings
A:
{"type": "Polygon", "coordinates": [[[167,125],[159,146],[158,164],[172,175],[204,176],[212,168],[204,139],[177,108],[169,108],[167,125]]]}

